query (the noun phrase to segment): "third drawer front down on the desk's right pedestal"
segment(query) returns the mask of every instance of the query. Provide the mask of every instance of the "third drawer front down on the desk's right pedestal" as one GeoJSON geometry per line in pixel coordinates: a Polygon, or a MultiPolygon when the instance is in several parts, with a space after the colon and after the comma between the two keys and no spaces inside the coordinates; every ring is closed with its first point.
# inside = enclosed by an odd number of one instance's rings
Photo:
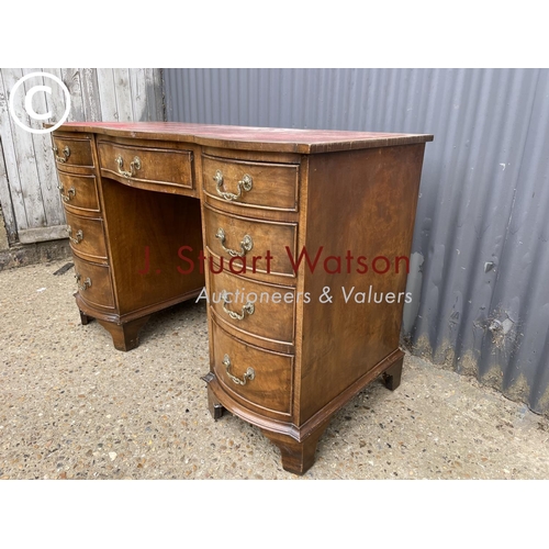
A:
{"type": "MultiPolygon", "coordinates": [[[[217,270],[217,269],[216,269],[217,270]]],[[[228,323],[244,335],[292,345],[294,340],[295,290],[253,282],[226,271],[209,273],[210,306],[220,323],[228,323]]]]}

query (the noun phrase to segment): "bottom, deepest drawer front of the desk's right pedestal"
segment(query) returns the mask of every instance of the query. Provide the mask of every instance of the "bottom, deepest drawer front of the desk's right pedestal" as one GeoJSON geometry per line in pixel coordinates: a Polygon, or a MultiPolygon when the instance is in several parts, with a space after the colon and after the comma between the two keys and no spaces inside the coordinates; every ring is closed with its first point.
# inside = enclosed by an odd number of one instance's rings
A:
{"type": "Polygon", "coordinates": [[[213,370],[227,391],[262,411],[289,415],[293,356],[278,355],[213,326],[213,370]]]}

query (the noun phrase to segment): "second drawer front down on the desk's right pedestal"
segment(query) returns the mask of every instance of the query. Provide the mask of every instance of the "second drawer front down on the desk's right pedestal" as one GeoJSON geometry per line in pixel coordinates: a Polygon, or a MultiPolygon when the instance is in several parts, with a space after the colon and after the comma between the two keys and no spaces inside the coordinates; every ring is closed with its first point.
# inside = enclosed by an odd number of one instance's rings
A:
{"type": "Polygon", "coordinates": [[[227,215],[206,205],[204,221],[208,249],[223,268],[236,274],[265,272],[295,277],[291,262],[296,258],[295,223],[227,215]]]}

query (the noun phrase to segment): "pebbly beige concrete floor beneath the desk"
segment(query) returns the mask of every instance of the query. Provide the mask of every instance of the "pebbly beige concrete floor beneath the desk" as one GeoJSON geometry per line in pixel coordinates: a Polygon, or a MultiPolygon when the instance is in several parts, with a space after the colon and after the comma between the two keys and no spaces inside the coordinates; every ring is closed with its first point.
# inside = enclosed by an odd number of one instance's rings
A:
{"type": "MultiPolygon", "coordinates": [[[[80,324],[67,264],[0,272],[1,479],[299,479],[261,433],[206,408],[203,304],[156,314],[116,351],[80,324]]],[[[549,422],[406,357],[332,419],[303,479],[548,479],[549,422]]]]}

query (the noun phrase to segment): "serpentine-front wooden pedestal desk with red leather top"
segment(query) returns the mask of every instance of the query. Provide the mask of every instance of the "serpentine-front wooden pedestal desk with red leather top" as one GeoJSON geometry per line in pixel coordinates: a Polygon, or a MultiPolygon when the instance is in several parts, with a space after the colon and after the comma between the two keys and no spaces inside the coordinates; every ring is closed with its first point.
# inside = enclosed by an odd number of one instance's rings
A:
{"type": "Polygon", "coordinates": [[[258,426],[304,473],[335,412],[380,374],[400,383],[432,139],[64,124],[53,145],[82,323],[130,350],[152,313],[208,296],[211,413],[258,426]]]}

